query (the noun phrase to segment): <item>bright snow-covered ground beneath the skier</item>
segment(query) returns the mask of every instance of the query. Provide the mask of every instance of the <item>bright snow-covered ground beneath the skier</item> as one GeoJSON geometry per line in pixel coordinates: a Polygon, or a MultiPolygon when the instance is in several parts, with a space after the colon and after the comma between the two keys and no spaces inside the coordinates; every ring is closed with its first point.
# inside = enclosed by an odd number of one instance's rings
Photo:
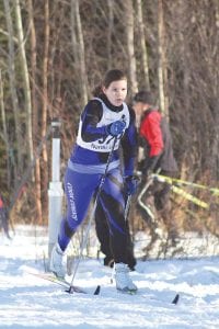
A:
{"type": "Polygon", "coordinates": [[[11,241],[0,234],[0,328],[219,328],[219,257],[138,261],[134,296],[116,292],[100,260],[83,259],[74,283],[101,293],[70,295],[30,274],[44,271],[47,232],[15,232],[11,241]]]}

